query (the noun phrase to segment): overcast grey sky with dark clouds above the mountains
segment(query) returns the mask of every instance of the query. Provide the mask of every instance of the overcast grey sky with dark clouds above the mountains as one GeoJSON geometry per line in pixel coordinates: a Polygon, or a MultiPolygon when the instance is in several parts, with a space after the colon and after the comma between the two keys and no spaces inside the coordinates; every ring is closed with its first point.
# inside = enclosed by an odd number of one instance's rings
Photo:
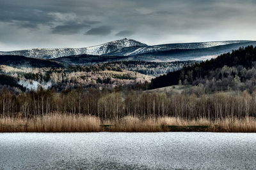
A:
{"type": "Polygon", "coordinates": [[[256,40],[256,0],[0,0],[0,51],[256,40]]]}

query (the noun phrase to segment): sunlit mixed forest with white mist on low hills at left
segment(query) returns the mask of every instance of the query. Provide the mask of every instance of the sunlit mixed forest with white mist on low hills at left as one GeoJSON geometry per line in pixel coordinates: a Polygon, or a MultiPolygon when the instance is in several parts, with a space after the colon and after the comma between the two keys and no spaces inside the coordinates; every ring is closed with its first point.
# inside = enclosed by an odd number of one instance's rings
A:
{"type": "MultiPolygon", "coordinates": [[[[150,81],[152,76],[105,64],[67,67],[17,67],[0,65],[0,89],[17,93],[39,87],[56,89],[131,87],[150,81]]],[[[147,84],[147,83],[146,83],[147,84]]],[[[140,86],[140,85],[139,85],[140,86]]]]}

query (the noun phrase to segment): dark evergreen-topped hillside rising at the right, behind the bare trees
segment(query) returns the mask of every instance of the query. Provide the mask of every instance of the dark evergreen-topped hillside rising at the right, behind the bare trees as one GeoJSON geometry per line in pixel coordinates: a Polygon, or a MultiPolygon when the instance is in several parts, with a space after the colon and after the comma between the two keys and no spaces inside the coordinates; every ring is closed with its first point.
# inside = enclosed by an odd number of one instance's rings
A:
{"type": "Polygon", "coordinates": [[[216,59],[195,63],[179,71],[154,78],[151,89],[170,85],[200,85],[207,92],[256,88],[256,47],[247,46],[216,59]]]}

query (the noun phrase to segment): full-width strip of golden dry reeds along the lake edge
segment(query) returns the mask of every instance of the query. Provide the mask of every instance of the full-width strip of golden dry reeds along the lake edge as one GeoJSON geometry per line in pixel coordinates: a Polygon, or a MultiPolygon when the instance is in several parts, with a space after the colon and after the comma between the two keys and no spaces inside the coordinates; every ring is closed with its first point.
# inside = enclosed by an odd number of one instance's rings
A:
{"type": "Polygon", "coordinates": [[[98,117],[58,114],[36,118],[0,118],[0,132],[256,132],[255,118],[184,120],[174,117],[100,120],[98,117]]]}

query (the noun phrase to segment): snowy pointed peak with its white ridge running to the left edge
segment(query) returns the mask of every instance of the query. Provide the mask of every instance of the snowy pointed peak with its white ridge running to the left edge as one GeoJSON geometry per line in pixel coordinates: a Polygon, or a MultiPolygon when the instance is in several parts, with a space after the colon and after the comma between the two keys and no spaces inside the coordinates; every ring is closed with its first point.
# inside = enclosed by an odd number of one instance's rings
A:
{"type": "Polygon", "coordinates": [[[0,52],[0,55],[22,55],[25,57],[31,57],[36,59],[54,59],[58,57],[65,57],[70,55],[103,55],[106,53],[112,53],[122,48],[131,46],[147,46],[144,43],[135,41],[134,39],[120,39],[111,41],[97,46],[90,46],[85,48],[33,48],[31,50],[19,50],[12,52],[0,52]]]}

